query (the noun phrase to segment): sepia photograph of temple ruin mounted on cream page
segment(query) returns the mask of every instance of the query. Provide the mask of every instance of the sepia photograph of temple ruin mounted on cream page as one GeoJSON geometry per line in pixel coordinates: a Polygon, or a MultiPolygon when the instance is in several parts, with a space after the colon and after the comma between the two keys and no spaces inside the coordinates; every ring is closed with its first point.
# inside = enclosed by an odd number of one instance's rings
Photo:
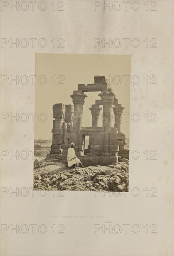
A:
{"type": "Polygon", "coordinates": [[[36,54],[34,189],[128,192],[130,55],[36,54]]]}

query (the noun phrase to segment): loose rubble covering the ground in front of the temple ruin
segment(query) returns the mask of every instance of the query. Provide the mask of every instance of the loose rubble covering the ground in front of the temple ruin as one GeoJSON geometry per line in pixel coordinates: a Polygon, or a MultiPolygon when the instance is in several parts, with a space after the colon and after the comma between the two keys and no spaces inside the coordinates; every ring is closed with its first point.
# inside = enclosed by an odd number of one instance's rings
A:
{"type": "Polygon", "coordinates": [[[34,190],[125,191],[129,160],[114,165],[67,168],[60,162],[40,163],[34,169],[34,190]]]}

